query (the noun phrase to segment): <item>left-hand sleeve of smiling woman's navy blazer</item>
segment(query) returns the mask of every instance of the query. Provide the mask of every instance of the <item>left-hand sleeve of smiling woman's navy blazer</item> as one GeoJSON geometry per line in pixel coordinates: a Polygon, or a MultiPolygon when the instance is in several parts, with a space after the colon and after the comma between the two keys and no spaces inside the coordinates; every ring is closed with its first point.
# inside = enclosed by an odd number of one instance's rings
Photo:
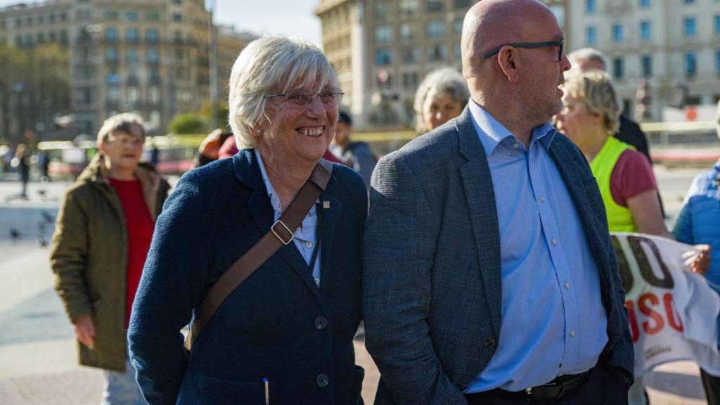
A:
{"type": "Polygon", "coordinates": [[[130,360],[148,404],[175,404],[188,364],[180,330],[204,293],[209,267],[204,195],[186,174],[158,217],[132,307],[130,360]]]}

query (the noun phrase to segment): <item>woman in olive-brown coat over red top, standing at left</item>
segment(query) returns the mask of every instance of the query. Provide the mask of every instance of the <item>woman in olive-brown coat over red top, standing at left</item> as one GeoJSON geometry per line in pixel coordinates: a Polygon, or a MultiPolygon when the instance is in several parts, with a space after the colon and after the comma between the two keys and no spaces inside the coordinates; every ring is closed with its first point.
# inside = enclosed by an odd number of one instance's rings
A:
{"type": "Polygon", "coordinates": [[[170,188],[140,162],[142,119],[109,117],[99,153],[68,188],[50,264],[55,290],[75,326],[81,365],[102,368],[102,404],[144,404],[127,360],[127,326],[155,221],[170,188]]]}

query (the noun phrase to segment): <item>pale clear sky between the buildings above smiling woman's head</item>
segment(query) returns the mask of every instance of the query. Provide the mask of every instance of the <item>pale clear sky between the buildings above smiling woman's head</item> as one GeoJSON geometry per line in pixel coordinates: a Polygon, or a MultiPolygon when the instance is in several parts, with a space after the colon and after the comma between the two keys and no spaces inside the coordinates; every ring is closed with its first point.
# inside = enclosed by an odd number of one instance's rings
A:
{"type": "MultiPolygon", "coordinates": [[[[209,4],[210,0],[206,0],[209,4]]],[[[216,0],[215,23],[234,25],[235,30],[264,33],[299,34],[322,46],[320,19],[312,9],[320,0],[216,0]]],[[[17,3],[34,3],[34,0],[0,0],[0,7],[17,3]]]]}

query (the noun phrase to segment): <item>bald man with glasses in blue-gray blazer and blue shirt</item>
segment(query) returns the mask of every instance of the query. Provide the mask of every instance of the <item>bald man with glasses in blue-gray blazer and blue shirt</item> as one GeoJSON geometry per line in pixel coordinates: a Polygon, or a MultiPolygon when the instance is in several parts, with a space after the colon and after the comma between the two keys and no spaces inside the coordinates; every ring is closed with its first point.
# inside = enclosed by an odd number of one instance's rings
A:
{"type": "Polygon", "coordinates": [[[372,177],[376,403],[624,404],[634,352],[600,192],[549,124],[564,34],[540,1],[483,0],[461,44],[465,110],[372,177]]]}

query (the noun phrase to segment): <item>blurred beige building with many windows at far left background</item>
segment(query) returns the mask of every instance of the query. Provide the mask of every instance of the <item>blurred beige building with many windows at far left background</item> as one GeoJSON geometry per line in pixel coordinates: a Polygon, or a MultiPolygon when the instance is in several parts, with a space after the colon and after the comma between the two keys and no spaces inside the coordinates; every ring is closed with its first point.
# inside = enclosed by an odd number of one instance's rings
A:
{"type": "Polygon", "coordinates": [[[210,97],[210,24],[203,0],[50,0],[0,9],[0,43],[66,47],[68,66],[45,68],[70,71],[74,133],[126,111],[164,133],[210,97]]]}

